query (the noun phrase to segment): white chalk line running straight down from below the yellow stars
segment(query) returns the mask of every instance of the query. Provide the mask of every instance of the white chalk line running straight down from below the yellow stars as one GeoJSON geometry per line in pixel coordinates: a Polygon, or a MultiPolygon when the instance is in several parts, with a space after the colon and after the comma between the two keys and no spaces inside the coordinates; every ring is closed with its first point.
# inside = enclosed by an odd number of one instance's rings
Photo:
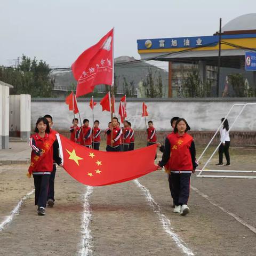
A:
{"type": "Polygon", "coordinates": [[[91,230],[90,230],[90,222],[91,222],[91,207],[89,203],[89,197],[92,194],[93,187],[87,186],[86,193],[84,194],[84,212],[82,218],[82,230],[81,233],[82,243],[81,243],[81,250],[79,251],[79,255],[81,256],[90,256],[92,255],[92,245],[91,245],[91,230]]]}

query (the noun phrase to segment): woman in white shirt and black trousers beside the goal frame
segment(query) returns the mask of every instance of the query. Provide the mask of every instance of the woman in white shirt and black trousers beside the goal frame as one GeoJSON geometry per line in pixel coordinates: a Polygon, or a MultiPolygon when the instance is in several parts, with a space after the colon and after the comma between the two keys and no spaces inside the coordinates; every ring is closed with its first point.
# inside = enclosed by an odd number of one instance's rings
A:
{"type": "MultiPolygon", "coordinates": [[[[221,123],[225,118],[221,118],[221,123]]],[[[229,138],[229,127],[228,127],[228,120],[226,119],[220,129],[220,141],[222,142],[219,147],[219,163],[217,166],[223,166],[223,153],[227,159],[227,164],[225,166],[231,166],[230,164],[230,156],[229,156],[229,146],[230,146],[230,138],[229,138]]]]}

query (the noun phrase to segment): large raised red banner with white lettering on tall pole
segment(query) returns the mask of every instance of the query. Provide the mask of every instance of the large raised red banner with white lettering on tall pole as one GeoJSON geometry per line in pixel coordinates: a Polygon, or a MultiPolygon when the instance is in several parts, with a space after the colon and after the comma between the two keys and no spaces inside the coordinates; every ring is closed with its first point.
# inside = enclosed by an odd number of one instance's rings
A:
{"type": "Polygon", "coordinates": [[[111,29],[72,64],[77,97],[92,92],[96,85],[113,85],[113,42],[114,29],[111,29]]]}

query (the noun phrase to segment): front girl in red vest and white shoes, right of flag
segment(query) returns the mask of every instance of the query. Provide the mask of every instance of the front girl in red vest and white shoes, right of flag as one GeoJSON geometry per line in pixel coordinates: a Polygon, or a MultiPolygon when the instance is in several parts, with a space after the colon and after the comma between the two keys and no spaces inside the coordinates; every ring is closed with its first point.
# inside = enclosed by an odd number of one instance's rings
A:
{"type": "Polygon", "coordinates": [[[191,173],[196,170],[196,149],[193,137],[187,131],[190,127],[184,118],[179,118],[174,127],[174,132],[165,140],[164,154],[158,163],[158,170],[165,166],[171,175],[173,185],[173,199],[175,208],[173,212],[186,215],[189,213],[187,206],[191,173]]]}

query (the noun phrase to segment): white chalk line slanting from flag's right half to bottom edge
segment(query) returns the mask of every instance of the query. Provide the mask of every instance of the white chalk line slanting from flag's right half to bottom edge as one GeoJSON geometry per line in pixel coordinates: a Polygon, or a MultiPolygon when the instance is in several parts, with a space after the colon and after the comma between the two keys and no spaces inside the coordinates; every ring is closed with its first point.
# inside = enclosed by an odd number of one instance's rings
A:
{"type": "Polygon", "coordinates": [[[155,202],[149,190],[138,180],[133,181],[146,195],[147,201],[149,202],[150,206],[153,207],[154,212],[158,215],[159,220],[162,222],[165,232],[172,237],[179,249],[181,249],[185,255],[195,255],[190,249],[188,249],[186,243],[183,242],[182,239],[173,231],[170,220],[163,214],[160,206],[155,202]]]}

